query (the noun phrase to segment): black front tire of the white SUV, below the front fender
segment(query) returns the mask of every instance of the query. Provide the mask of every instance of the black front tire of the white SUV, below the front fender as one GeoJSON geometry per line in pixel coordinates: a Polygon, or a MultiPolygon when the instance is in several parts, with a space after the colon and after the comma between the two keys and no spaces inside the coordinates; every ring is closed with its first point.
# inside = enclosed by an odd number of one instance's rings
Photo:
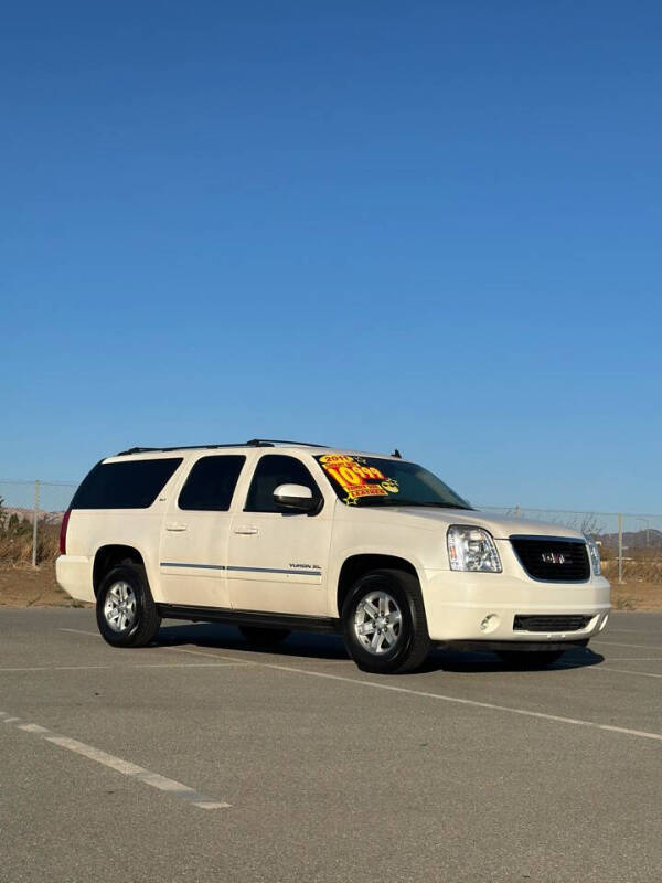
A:
{"type": "Polygon", "coordinates": [[[404,674],[419,668],[429,653],[430,639],[420,586],[418,579],[409,573],[383,570],[365,574],[350,589],[342,605],[341,616],[348,651],[363,671],[404,674]],[[383,639],[375,636],[377,627],[363,638],[356,631],[360,628],[359,619],[363,618],[363,625],[367,628],[373,621],[378,624],[378,619],[369,620],[365,613],[364,604],[373,593],[384,593],[395,602],[399,613],[398,628],[393,620],[388,621],[389,614],[386,611],[386,621],[381,624],[383,639]],[[393,641],[389,635],[395,636],[393,641]],[[376,649],[367,649],[365,641],[374,642],[375,639],[376,649]]]}

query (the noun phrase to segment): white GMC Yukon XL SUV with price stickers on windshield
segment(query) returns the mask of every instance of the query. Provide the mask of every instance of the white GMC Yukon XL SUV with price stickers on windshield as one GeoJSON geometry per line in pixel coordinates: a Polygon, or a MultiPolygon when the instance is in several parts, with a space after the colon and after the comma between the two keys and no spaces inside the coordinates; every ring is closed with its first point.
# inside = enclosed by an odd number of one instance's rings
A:
{"type": "Polygon", "coordinates": [[[115,647],[162,618],[254,643],[342,632],[356,663],[410,671],[431,645],[545,666],[605,628],[609,583],[583,534],[480,512],[399,457],[254,439],[132,448],[67,511],[57,582],[115,647]]]}

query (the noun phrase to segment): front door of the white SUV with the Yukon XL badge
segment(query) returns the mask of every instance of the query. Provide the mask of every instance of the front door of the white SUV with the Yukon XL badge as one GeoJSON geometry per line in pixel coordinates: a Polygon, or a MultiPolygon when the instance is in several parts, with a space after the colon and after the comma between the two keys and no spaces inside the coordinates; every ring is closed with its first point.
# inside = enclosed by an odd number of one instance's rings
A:
{"type": "Polygon", "coordinates": [[[243,507],[232,520],[227,579],[232,606],[307,616],[328,616],[327,567],[333,501],[322,496],[298,457],[264,454],[257,460],[243,507]],[[279,485],[303,485],[320,500],[317,514],[278,507],[279,485]]]}

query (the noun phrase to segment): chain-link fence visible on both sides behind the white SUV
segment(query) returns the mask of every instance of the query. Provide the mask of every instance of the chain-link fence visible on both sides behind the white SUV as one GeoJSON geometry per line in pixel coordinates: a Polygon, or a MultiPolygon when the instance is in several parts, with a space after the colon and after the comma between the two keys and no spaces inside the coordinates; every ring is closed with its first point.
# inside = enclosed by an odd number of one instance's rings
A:
{"type": "MultiPolygon", "coordinates": [[[[76,487],[71,481],[0,480],[0,562],[36,565],[54,561],[62,515],[76,487]]],[[[662,584],[662,515],[520,506],[478,508],[581,531],[600,544],[605,572],[613,582],[662,584]]]]}

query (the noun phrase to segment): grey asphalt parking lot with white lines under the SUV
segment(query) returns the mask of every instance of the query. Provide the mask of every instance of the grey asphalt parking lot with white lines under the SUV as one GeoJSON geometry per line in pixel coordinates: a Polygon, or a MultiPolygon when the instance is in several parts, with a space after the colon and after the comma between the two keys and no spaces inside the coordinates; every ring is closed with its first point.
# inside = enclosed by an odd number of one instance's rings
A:
{"type": "Polygon", "coordinates": [[[548,671],[437,651],[359,671],[88,609],[0,611],[0,880],[662,879],[662,615],[613,614],[548,671]]]}

